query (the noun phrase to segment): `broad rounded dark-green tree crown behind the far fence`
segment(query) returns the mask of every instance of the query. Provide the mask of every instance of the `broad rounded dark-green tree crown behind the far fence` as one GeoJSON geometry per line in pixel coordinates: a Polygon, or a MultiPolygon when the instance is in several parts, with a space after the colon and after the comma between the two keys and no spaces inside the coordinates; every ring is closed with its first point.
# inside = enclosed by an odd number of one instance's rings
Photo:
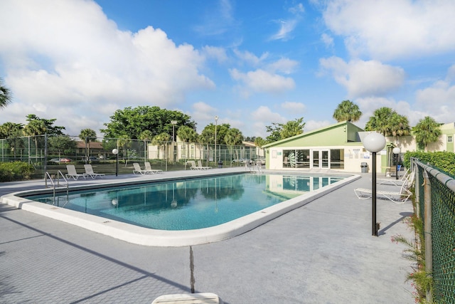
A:
{"type": "Polygon", "coordinates": [[[196,122],[183,112],[161,109],[157,106],[139,106],[115,111],[110,117],[110,122],[104,124],[106,128],[101,132],[105,137],[115,138],[126,135],[132,139],[139,138],[144,130],[149,130],[153,136],[162,132],[172,134],[172,120],[176,120],[176,127],[188,125],[196,128],[196,122]]]}

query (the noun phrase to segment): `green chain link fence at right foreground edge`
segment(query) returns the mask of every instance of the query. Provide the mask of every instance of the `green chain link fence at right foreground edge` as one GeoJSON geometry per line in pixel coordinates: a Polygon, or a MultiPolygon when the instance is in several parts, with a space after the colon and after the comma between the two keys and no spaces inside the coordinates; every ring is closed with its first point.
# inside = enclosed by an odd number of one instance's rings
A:
{"type": "Polygon", "coordinates": [[[425,263],[432,266],[432,298],[435,303],[455,303],[455,179],[417,159],[412,164],[417,168],[417,213],[431,247],[425,263]]]}

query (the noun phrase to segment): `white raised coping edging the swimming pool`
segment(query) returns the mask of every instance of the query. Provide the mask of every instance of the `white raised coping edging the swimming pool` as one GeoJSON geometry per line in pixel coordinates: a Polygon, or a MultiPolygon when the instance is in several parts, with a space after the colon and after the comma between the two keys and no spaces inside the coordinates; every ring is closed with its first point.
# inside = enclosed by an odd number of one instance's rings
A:
{"type": "MultiPolygon", "coordinates": [[[[207,172],[207,174],[197,174],[194,177],[210,177],[213,176],[215,172],[207,172]]],[[[239,173],[239,172],[237,172],[239,173]]],[[[264,173],[271,174],[308,174],[309,172],[277,172],[269,171],[264,173]]],[[[216,175],[225,175],[232,173],[220,173],[216,175]]],[[[349,184],[350,182],[360,179],[358,174],[346,174],[337,172],[334,174],[323,174],[325,176],[331,175],[349,175],[346,179],[343,179],[334,184],[327,185],[321,189],[314,190],[314,192],[302,194],[293,199],[283,201],[282,203],[275,204],[274,206],[269,206],[265,209],[256,211],[252,214],[242,216],[239,219],[229,221],[225,224],[220,224],[218,226],[203,228],[203,229],[194,229],[186,231],[166,231],[158,229],[144,228],[140,226],[135,226],[133,224],[127,224],[120,221],[115,221],[112,219],[105,219],[100,216],[95,216],[91,214],[84,214],[79,211],[73,211],[70,209],[64,209],[58,206],[49,205],[40,203],[38,201],[31,201],[26,197],[21,197],[19,195],[31,195],[31,194],[42,194],[45,192],[52,192],[52,189],[33,189],[26,190],[21,192],[14,192],[11,194],[6,194],[0,197],[0,202],[9,204],[11,206],[16,206],[18,209],[23,209],[26,211],[31,211],[35,214],[40,214],[42,216],[49,217],[50,219],[56,219],[58,221],[63,221],[68,224],[73,224],[75,226],[80,226],[82,228],[88,229],[90,231],[95,231],[106,236],[111,236],[114,239],[120,239],[122,241],[127,241],[129,243],[135,243],[142,246],[161,246],[161,247],[180,247],[180,246],[193,246],[201,245],[205,243],[214,243],[218,241],[223,241],[225,239],[230,239],[240,234],[245,234],[247,231],[261,226],[262,224],[276,219],[283,214],[287,214],[289,211],[297,209],[301,206],[309,204],[314,199],[332,192],[340,187],[349,184]]],[[[90,188],[100,188],[100,187],[114,187],[121,186],[125,184],[141,184],[149,182],[166,182],[173,180],[181,179],[191,179],[191,176],[184,177],[166,177],[163,176],[159,179],[143,179],[143,180],[132,180],[132,181],[122,181],[122,182],[108,182],[102,184],[84,184],[79,186],[70,187],[71,190],[77,189],[90,189],[90,188]]],[[[66,191],[65,189],[56,189],[58,192],[66,191]]]]}

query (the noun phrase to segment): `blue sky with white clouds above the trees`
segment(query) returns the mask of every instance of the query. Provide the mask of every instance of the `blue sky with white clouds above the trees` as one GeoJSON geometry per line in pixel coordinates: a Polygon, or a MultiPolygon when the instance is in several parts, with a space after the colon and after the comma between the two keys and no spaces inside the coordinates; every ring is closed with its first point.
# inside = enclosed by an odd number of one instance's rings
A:
{"type": "Polygon", "coordinates": [[[454,122],[455,1],[3,0],[0,124],[57,118],[99,135],[115,110],[158,105],[245,136],[349,99],[410,125],[454,122]],[[7,28],[7,30],[6,30],[7,28]]]}

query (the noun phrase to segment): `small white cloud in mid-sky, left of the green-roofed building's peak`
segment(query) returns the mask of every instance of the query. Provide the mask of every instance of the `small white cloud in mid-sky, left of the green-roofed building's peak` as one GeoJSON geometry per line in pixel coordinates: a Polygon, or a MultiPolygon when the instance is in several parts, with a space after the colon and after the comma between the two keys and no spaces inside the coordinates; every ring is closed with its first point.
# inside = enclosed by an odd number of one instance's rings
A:
{"type": "Polygon", "coordinates": [[[242,95],[246,97],[252,93],[282,93],[286,90],[292,90],[295,87],[292,78],[268,73],[261,69],[242,73],[236,68],[233,68],[229,72],[232,79],[241,83],[240,90],[242,95]]]}

